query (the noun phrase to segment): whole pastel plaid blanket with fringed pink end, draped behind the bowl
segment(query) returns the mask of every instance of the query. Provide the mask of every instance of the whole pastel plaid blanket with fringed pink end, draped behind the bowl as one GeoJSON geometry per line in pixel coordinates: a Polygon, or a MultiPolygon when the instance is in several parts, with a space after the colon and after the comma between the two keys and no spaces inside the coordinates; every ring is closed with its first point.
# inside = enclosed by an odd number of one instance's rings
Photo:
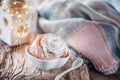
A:
{"type": "Polygon", "coordinates": [[[112,74],[120,59],[120,13],[104,1],[46,0],[39,6],[39,25],[81,52],[95,69],[112,74]]]}

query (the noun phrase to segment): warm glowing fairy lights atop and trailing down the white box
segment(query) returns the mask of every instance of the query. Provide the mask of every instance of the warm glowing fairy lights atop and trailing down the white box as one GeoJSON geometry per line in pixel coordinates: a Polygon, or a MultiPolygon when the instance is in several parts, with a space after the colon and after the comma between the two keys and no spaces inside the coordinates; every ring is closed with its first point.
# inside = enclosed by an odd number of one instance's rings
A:
{"type": "Polygon", "coordinates": [[[25,4],[25,0],[3,0],[2,9],[16,16],[13,19],[11,29],[15,32],[14,35],[17,38],[15,44],[17,42],[21,43],[21,40],[25,38],[30,31],[31,15],[25,15],[32,12],[32,7],[25,4]]]}

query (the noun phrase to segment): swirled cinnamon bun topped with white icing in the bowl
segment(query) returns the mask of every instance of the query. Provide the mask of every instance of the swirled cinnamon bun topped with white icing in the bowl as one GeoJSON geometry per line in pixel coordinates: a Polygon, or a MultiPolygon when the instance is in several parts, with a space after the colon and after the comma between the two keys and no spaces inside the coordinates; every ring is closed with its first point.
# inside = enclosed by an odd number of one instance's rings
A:
{"type": "Polygon", "coordinates": [[[30,53],[40,55],[42,59],[60,58],[68,51],[69,49],[65,41],[54,34],[37,36],[30,46],[30,53]]]}

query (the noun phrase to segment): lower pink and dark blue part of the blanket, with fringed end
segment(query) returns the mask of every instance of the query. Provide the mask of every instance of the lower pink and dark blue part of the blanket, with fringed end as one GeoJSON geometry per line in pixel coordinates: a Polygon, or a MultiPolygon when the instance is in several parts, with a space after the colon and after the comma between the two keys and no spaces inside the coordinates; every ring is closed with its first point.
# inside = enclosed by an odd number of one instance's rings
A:
{"type": "Polygon", "coordinates": [[[117,31],[108,24],[87,22],[69,34],[66,41],[92,61],[98,71],[111,74],[119,67],[120,49],[116,42],[119,36],[117,31]]]}

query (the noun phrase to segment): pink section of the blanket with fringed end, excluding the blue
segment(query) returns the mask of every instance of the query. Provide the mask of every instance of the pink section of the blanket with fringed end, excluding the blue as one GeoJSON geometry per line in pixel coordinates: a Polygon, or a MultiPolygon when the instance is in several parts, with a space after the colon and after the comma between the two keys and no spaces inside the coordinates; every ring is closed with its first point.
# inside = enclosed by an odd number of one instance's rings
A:
{"type": "Polygon", "coordinates": [[[71,33],[66,41],[90,59],[98,71],[111,74],[118,70],[118,61],[112,55],[99,26],[90,22],[84,23],[71,33]]]}

